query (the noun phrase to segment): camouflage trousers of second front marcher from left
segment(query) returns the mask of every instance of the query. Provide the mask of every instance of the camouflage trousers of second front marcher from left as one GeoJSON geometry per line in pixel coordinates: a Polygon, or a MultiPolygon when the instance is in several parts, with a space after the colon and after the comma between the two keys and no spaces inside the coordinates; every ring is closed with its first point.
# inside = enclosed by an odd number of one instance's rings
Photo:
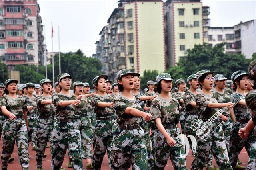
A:
{"type": "Polygon", "coordinates": [[[37,121],[36,128],[36,165],[38,168],[42,168],[42,160],[47,145],[48,139],[50,140],[51,155],[53,154],[53,127],[55,119],[42,119],[37,121]]]}

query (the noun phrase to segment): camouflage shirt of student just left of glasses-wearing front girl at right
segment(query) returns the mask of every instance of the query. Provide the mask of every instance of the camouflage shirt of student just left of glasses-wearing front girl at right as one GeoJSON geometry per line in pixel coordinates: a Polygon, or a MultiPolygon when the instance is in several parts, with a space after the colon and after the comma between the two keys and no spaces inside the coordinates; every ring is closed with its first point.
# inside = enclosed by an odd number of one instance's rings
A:
{"type": "Polygon", "coordinates": [[[186,114],[189,115],[190,113],[198,113],[197,108],[193,107],[190,103],[196,102],[196,95],[191,93],[190,91],[186,91],[183,96],[184,104],[186,107],[186,114]]]}

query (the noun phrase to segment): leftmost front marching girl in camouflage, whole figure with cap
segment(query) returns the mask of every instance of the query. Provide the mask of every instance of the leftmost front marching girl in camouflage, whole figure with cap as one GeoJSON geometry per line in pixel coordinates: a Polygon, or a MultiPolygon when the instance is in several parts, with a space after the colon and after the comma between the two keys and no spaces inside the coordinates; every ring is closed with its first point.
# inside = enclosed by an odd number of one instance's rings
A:
{"type": "Polygon", "coordinates": [[[0,109],[6,116],[3,123],[2,170],[7,170],[8,160],[16,141],[18,157],[22,170],[28,170],[28,119],[26,98],[16,95],[18,80],[8,79],[4,82],[6,96],[1,97],[0,109]]]}

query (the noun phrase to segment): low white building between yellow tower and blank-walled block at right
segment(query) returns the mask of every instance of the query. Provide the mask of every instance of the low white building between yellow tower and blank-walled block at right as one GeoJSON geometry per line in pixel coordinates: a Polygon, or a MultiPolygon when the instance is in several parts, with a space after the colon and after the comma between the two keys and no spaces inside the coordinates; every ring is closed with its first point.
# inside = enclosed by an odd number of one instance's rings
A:
{"type": "Polygon", "coordinates": [[[214,45],[226,42],[225,52],[234,54],[235,50],[235,31],[234,27],[210,27],[208,30],[208,43],[214,45]]]}

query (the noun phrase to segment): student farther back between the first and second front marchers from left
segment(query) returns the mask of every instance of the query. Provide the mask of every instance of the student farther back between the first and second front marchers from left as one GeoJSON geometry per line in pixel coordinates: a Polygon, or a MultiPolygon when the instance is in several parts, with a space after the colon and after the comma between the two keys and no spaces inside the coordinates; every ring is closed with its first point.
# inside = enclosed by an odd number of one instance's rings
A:
{"type": "Polygon", "coordinates": [[[26,83],[26,90],[28,94],[26,95],[27,106],[28,106],[28,140],[32,141],[32,149],[36,150],[36,126],[37,126],[37,105],[36,105],[36,97],[33,96],[33,92],[35,90],[34,83],[26,83]]]}

